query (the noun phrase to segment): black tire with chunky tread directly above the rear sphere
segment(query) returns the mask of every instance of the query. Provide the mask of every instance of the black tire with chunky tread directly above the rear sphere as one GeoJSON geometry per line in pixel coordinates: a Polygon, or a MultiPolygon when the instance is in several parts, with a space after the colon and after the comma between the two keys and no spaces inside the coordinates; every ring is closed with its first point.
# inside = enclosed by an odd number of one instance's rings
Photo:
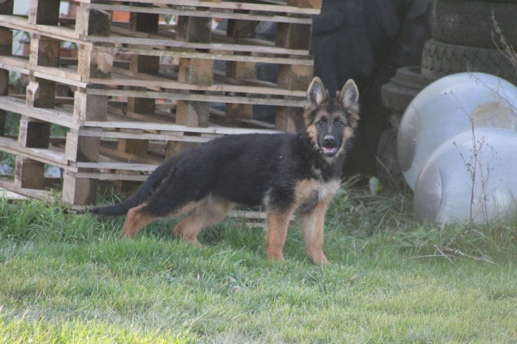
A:
{"type": "MultiPolygon", "coordinates": [[[[517,62],[517,61],[515,61],[517,62]]],[[[422,75],[442,77],[461,72],[484,72],[517,84],[517,66],[497,49],[474,48],[430,39],[422,51],[422,75]]]]}

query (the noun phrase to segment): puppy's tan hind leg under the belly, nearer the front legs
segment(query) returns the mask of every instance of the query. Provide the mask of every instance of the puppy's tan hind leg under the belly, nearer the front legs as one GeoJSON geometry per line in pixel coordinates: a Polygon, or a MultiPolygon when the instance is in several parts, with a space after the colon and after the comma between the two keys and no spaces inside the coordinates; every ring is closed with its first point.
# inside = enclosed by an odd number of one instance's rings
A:
{"type": "Polygon", "coordinates": [[[223,219],[232,209],[231,202],[207,201],[200,204],[194,211],[174,227],[174,234],[195,246],[201,246],[197,241],[197,234],[208,225],[223,219]]]}

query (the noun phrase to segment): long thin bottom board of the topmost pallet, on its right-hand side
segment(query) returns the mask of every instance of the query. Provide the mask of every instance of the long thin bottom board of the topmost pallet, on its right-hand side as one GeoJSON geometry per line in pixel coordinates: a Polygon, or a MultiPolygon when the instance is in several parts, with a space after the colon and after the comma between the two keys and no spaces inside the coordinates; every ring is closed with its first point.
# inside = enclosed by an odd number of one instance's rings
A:
{"type": "MultiPolygon", "coordinates": [[[[217,6],[217,5],[216,5],[217,6]]],[[[286,15],[272,14],[274,12],[269,11],[270,15],[255,14],[255,13],[234,13],[225,11],[214,11],[218,7],[210,7],[206,10],[186,10],[186,9],[175,9],[175,8],[162,8],[162,7],[140,7],[140,6],[123,6],[123,5],[100,5],[92,4],[90,8],[98,10],[111,10],[111,11],[127,11],[127,12],[139,12],[139,13],[157,13],[165,15],[184,15],[187,17],[204,17],[204,18],[225,18],[225,19],[241,19],[241,20],[254,20],[254,21],[267,21],[276,23],[297,23],[297,24],[312,24],[312,18],[299,18],[299,17],[287,17],[286,15]]],[[[282,12],[279,12],[282,13],[282,12]]]]}

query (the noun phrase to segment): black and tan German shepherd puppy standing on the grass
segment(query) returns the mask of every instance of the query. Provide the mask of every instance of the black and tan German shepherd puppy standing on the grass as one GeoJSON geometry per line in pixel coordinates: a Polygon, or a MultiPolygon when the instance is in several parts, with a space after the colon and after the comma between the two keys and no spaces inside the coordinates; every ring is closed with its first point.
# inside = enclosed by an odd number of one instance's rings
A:
{"type": "Polygon", "coordinates": [[[271,260],[283,260],[287,226],[298,211],[308,255],[314,263],[327,264],[324,217],[340,186],[345,153],[359,120],[358,99],[353,80],[336,98],[329,98],[314,77],[303,114],[306,131],[210,140],[166,160],[124,202],[90,211],[100,216],[127,213],[122,238],[133,238],[158,218],[190,213],[174,227],[174,234],[200,245],[200,230],[222,220],[234,204],[262,205],[271,260]]]}

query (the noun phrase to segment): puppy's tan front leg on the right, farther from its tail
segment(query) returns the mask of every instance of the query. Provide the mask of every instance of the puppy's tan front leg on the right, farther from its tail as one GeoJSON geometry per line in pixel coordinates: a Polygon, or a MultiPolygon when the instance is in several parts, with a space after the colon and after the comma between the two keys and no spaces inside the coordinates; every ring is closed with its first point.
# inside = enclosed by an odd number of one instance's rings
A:
{"type": "Polygon", "coordinates": [[[315,264],[328,265],[323,253],[324,223],[327,202],[318,203],[313,209],[301,214],[301,231],[305,248],[315,264]]]}

